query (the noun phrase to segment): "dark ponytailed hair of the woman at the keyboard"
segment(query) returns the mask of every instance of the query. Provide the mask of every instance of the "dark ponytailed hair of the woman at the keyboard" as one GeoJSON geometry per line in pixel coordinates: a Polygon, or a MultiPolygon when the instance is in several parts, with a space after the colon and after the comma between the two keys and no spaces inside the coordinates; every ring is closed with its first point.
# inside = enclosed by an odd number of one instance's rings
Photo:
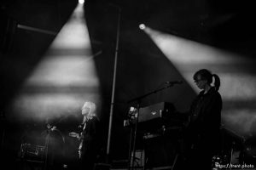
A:
{"type": "Polygon", "coordinates": [[[201,69],[199,71],[196,71],[193,78],[196,80],[196,77],[200,75],[202,80],[207,80],[207,83],[212,83],[212,77],[214,77],[214,88],[216,91],[218,91],[220,87],[220,79],[217,74],[212,74],[211,71],[208,71],[207,69],[201,69]]]}

